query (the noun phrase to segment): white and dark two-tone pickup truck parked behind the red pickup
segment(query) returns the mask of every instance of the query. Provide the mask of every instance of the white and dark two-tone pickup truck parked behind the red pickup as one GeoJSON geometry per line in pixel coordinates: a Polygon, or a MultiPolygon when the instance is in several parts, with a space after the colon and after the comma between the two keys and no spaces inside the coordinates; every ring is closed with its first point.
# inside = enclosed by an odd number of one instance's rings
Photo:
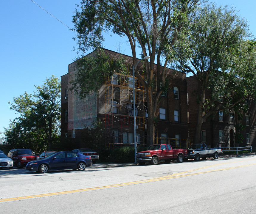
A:
{"type": "Polygon", "coordinates": [[[221,148],[207,148],[206,144],[192,144],[187,150],[187,159],[194,159],[199,161],[206,160],[206,158],[213,157],[218,159],[219,155],[222,155],[221,148]]]}

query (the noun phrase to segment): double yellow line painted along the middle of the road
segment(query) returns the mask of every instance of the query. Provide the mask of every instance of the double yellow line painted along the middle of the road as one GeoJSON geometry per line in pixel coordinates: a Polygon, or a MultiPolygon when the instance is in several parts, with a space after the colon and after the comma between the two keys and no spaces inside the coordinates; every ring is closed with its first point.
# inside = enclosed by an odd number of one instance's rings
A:
{"type": "MultiPolygon", "coordinates": [[[[241,162],[241,161],[236,161],[236,162],[241,162]]],[[[230,162],[230,163],[235,163],[235,162],[230,162]]],[[[227,163],[221,163],[221,164],[216,164],[216,165],[212,165],[212,166],[219,166],[219,165],[223,165],[223,164],[227,164],[227,163]]],[[[45,196],[56,196],[56,195],[63,195],[63,194],[68,194],[68,193],[84,192],[84,191],[99,190],[99,189],[106,189],[106,188],[113,188],[113,187],[122,187],[122,186],[134,185],[134,184],[141,184],[141,183],[148,183],[148,182],[154,182],[154,181],[169,180],[169,179],[173,179],[173,178],[187,177],[187,176],[198,175],[198,174],[205,174],[205,173],[215,172],[215,171],[236,169],[236,168],[253,166],[253,165],[256,165],[256,163],[243,165],[243,166],[234,166],[234,167],[229,167],[229,168],[225,168],[225,169],[215,169],[215,170],[211,170],[211,171],[185,174],[185,173],[190,173],[190,172],[193,172],[196,170],[212,167],[212,166],[206,166],[206,167],[202,167],[202,168],[198,168],[198,169],[193,169],[193,170],[189,170],[189,171],[184,171],[184,172],[180,172],[180,173],[176,173],[176,174],[172,174],[172,175],[166,175],[166,176],[156,177],[156,178],[147,179],[147,180],[133,181],[133,182],[113,184],[113,185],[93,187],[93,188],[86,188],[86,189],[79,189],[79,190],[70,190],[70,191],[63,191],[63,192],[56,192],[56,193],[47,193],[47,194],[32,195],[32,196],[22,196],[22,197],[17,197],[17,198],[0,199],[0,202],[10,202],[10,201],[21,200],[21,199],[39,198],[39,197],[45,197],[45,196]]]]}

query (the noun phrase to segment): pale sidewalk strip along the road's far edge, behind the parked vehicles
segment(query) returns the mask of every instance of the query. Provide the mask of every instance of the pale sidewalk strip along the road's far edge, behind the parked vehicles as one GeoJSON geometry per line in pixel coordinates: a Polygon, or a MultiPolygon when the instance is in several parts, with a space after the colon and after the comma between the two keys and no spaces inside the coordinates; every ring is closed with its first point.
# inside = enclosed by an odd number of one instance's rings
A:
{"type": "MultiPolygon", "coordinates": [[[[244,154],[238,154],[238,155],[222,155],[219,156],[219,159],[229,159],[229,158],[241,158],[249,155],[256,155],[256,152],[249,152],[244,154]]],[[[207,158],[208,160],[213,160],[213,158],[207,158]]],[[[193,161],[191,159],[191,161],[193,161]]],[[[90,168],[110,168],[110,167],[119,167],[119,166],[137,166],[138,163],[95,163],[90,166],[90,168]]]]}

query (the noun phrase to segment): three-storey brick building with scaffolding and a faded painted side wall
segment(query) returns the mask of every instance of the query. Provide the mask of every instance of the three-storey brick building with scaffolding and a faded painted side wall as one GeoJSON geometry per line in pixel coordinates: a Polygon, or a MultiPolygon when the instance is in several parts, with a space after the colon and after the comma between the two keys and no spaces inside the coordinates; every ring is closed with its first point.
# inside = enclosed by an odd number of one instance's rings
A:
{"type": "MultiPolygon", "coordinates": [[[[118,56],[105,49],[110,56],[118,56]]],[[[93,52],[91,54],[94,54],[93,52]]],[[[125,56],[132,64],[131,56],[125,56]]],[[[138,68],[142,63],[138,65],[138,68]]],[[[105,78],[98,95],[91,93],[85,100],[68,91],[76,72],[76,62],[69,64],[68,73],[61,77],[61,139],[70,139],[79,147],[86,144],[83,134],[96,118],[104,121],[106,143],[115,146],[134,144],[133,81],[132,76],[119,73],[105,78]]],[[[172,69],[167,71],[171,83],[161,96],[156,114],[156,142],[168,142],[173,147],[187,147],[187,81],[186,74],[172,69]]],[[[136,136],[137,143],[147,141],[147,95],[135,78],[136,136]]]]}

